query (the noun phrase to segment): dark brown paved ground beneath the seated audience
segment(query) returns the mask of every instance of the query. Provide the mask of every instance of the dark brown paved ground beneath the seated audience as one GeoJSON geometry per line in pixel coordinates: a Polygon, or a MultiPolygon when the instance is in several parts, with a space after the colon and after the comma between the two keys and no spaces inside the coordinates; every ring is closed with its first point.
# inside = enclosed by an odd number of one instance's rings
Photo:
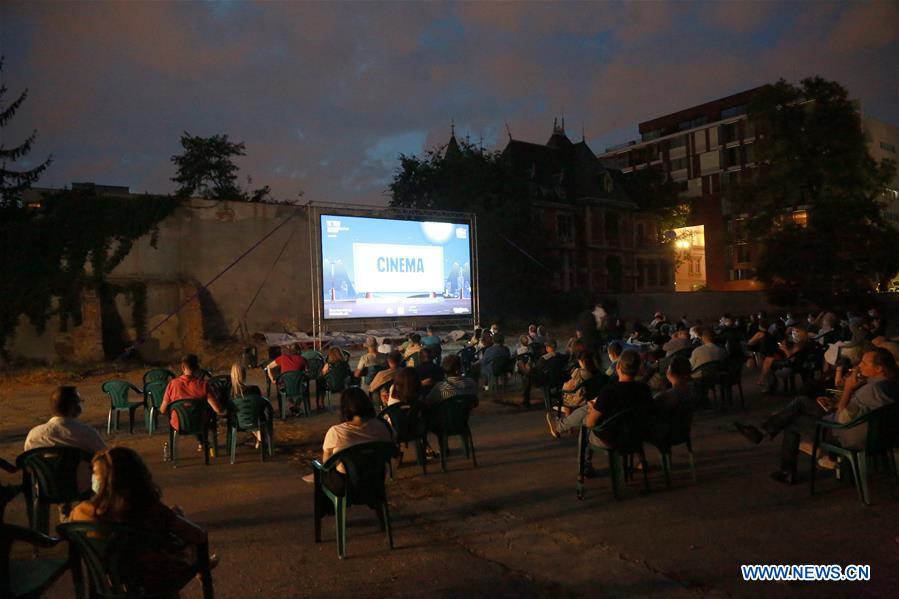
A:
{"type": "MultiPolygon", "coordinates": [[[[127,376],[140,380],[139,373],[127,376]]],[[[105,425],[106,405],[100,381],[78,383],[90,400],[84,418],[98,427],[105,425]]],[[[744,386],[749,391],[749,378],[744,386]]],[[[46,419],[49,389],[0,389],[0,455],[18,454],[28,428],[46,419]]],[[[220,597],[895,596],[899,487],[876,474],[873,505],[864,507],[853,487],[832,475],[814,497],[807,484],[770,481],[777,447],[749,446],[731,422],[764,415],[785,400],[747,395],[751,407],[738,415],[698,414],[697,483],[685,454],[675,450],[674,481],[666,489],[650,450],[652,491],[644,493],[638,479],[622,501],[612,498],[602,477],[589,480],[578,501],[575,440],[552,439],[540,411],[486,398],[473,416],[478,467],[461,452],[451,456],[448,473],[439,464],[427,476],[404,466],[388,490],[396,548],[388,549],[374,514],[356,507],[343,561],[332,519],[325,522],[325,542],[313,543],[311,485],[300,480],[333,414],[277,423],[277,453],[264,465],[241,446],[237,464],[220,458],[205,467],[185,440],[185,459],[174,469],[162,461],[163,435],[148,437],[142,425],[111,442],[140,451],[165,501],[209,529],[221,557],[214,575],[220,597]],[[740,564],[750,563],[870,564],[872,580],[744,583],[740,564]]],[[[25,521],[20,500],[6,520],[25,521]]],[[[51,596],[71,596],[70,584],[64,578],[51,596]]],[[[185,596],[198,591],[193,585],[185,596]]]]}

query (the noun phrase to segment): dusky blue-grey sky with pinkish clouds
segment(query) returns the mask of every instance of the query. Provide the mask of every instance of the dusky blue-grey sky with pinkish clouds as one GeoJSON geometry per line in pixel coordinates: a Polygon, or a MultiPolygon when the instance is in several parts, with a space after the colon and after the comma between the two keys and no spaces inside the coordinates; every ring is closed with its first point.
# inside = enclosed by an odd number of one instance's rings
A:
{"type": "MultiPolygon", "coordinates": [[[[449,124],[501,149],[564,114],[594,151],[636,125],[820,74],[899,122],[888,2],[0,3],[4,145],[38,130],[40,184],[174,189],[182,131],[242,140],[279,197],[383,203],[397,154],[449,124]]],[[[245,181],[244,181],[245,182],[245,181]]]]}

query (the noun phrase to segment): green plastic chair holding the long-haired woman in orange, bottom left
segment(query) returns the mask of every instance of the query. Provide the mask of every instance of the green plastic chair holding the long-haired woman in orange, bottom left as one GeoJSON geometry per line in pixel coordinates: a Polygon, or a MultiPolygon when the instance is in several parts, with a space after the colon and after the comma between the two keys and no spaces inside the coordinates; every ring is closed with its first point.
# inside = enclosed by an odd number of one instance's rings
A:
{"type": "Polygon", "coordinates": [[[91,597],[173,597],[196,577],[203,585],[203,598],[214,596],[206,543],[197,547],[196,561],[187,563],[178,554],[188,545],[171,535],[99,522],[60,524],[56,532],[69,542],[72,579],[79,598],[84,596],[82,563],[87,567],[91,597]],[[165,576],[150,576],[141,567],[141,555],[150,559],[169,555],[173,564],[183,567],[170,569],[165,576]]]}

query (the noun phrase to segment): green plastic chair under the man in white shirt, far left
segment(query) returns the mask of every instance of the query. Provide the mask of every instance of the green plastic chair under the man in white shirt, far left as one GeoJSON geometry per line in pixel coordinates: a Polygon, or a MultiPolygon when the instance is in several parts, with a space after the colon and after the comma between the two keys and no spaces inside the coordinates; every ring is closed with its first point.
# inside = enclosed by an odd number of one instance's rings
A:
{"type": "Polygon", "coordinates": [[[38,447],[20,454],[16,468],[22,472],[22,492],[28,524],[37,532],[50,532],[50,505],[71,504],[91,496],[79,491],[78,469],[93,455],[77,447],[38,447]]]}

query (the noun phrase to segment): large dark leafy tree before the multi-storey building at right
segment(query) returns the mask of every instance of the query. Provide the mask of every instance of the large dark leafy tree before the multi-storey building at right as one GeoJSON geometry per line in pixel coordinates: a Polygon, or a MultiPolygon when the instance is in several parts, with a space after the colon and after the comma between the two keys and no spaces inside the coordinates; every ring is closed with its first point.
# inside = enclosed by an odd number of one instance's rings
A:
{"type": "Polygon", "coordinates": [[[899,270],[881,195],[896,164],[868,154],[845,88],[821,77],[767,86],[748,109],[759,176],[727,194],[763,242],[758,276],[781,304],[852,301],[899,270]],[[807,218],[794,222],[794,210],[807,218]]]}

